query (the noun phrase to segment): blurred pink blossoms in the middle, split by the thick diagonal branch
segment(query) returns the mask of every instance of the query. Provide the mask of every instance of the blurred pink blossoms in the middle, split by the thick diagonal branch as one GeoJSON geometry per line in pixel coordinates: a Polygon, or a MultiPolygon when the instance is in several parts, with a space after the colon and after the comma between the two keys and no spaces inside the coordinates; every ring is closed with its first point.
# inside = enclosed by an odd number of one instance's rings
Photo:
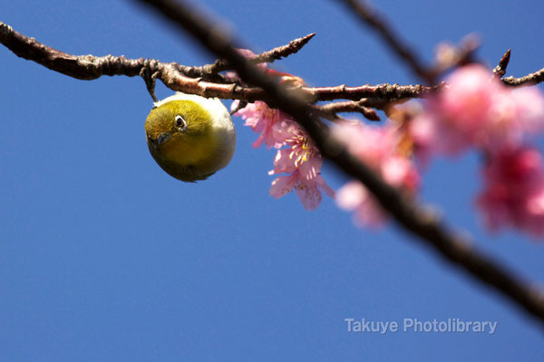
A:
{"type": "MultiPolygon", "coordinates": [[[[360,122],[341,124],[333,129],[337,139],[365,165],[374,168],[391,186],[413,194],[419,185],[419,174],[413,161],[401,151],[403,133],[393,123],[384,127],[360,122]]],[[[360,226],[384,224],[385,213],[363,184],[351,181],[338,190],[336,204],[354,211],[354,222],[360,226]]]]}

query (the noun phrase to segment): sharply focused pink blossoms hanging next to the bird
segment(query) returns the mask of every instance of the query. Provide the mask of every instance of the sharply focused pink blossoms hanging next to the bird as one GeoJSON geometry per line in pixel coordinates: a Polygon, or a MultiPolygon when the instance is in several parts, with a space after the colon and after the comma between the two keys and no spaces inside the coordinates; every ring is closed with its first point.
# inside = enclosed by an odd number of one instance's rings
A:
{"type": "MultiPolygon", "coordinates": [[[[232,110],[238,108],[238,101],[232,102],[232,110]]],[[[254,148],[263,144],[268,148],[278,148],[274,159],[274,169],[270,175],[278,176],[272,181],[270,195],[279,198],[292,190],[306,210],[315,210],[321,203],[323,191],[335,197],[335,191],[325,183],[321,176],[323,160],[312,140],[298,127],[296,122],[280,110],[270,109],[267,103],[256,101],[238,110],[235,115],[246,120],[245,126],[260,133],[254,148]],[[286,147],[287,148],[284,148],[286,147]]]]}

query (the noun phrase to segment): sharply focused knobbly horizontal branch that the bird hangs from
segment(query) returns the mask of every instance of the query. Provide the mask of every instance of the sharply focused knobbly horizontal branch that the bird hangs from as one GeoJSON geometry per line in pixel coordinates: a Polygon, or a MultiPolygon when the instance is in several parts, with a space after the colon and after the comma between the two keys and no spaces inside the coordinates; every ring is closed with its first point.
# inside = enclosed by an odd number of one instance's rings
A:
{"type": "MultiPolygon", "coordinates": [[[[304,39],[303,41],[299,39],[296,42],[299,44],[307,42],[311,38],[310,35],[301,38],[304,39]]],[[[102,75],[134,77],[140,75],[142,68],[147,65],[147,71],[151,74],[156,73],[157,79],[171,90],[198,94],[203,97],[218,97],[223,100],[245,100],[248,102],[263,100],[273,104],[267,93],[259,88],[191,77],[189,74],[193,74],[195,67],[183,66],[176,62],[159,62],[143,58],[127,59],[122,55],[106,55],[103,57],[73,55],[39,43],[34,38],[26,37],[22,33],[17,33],[11,26],[4,23],[0,23],[0,43],[3,43],[16,55],[26,60],[37,62],[52,71],[58,71],[80,80],[94,80],[102,75]]],[[[277,54],[279,51],[275,52],[273,50],[272,52],[277,54]]],[[[303,87],[300,91],[312,102],[341,99],[360,100],[370,97],[383,100],[401,100],[422,98],[425,94],[438,90],[442,86],[443,84],[435,87],[381,84],[347,87],[343,84],[334,87],[303,87]]]]}

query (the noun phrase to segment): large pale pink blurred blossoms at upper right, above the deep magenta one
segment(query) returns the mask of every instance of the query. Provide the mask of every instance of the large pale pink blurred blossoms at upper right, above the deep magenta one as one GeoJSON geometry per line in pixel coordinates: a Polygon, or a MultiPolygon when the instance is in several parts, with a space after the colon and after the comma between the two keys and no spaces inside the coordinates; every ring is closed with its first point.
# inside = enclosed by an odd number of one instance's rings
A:
{"type": "Polygon", "coordinates": [[[410,123],[416,151],[457,155],[470,148],[519,147],[544,129],[544,97],[537,88],[512,90],[481,65],[454,71],[449,86],[427,100],[410,123]]]}

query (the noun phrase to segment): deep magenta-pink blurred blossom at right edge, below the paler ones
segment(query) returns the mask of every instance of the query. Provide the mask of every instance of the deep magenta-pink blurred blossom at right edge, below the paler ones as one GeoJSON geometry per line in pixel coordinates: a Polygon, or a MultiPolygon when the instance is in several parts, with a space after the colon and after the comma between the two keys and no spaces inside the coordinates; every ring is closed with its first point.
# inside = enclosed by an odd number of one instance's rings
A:
{"type": "Polygon", "coordinates": [[[476,205],[488,228],[514,226],[544,236],[544,164],[537,149],[500,150],[491,155],[483,177],[476,205]]]}

